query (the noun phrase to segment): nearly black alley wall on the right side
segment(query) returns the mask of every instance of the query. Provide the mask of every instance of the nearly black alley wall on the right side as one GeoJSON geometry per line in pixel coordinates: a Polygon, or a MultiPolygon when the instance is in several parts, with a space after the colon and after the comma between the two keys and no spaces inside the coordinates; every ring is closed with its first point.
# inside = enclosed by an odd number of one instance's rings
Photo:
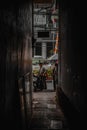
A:
{"type": "MultiPolygon", "coordinates": [[[[59,87],[74,108],[84,116],[86,93],[83,81],[81,4],[75,1],[59,3],[59,87]],[[83,112],[84,111],[84,112],[83,112]],[[83,114],[84,113],[84,114],[83,114]]],[[[63,101],[63,100],[62,100],[63,101]]],[[[67,108],[67,104],[65,104],[67,108]]],[[[67,109],[69,112],[69,109],[67,109]]]]}

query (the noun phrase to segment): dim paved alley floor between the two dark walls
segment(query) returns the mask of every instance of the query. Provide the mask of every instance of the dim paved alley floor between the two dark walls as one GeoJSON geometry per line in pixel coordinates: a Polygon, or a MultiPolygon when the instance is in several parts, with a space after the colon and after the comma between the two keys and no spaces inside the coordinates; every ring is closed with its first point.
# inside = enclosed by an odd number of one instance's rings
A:
{"type": "Polygon", "coordinates": [[[33,93],[33,116],[30,130],[69,130],[60,106],[56,104],[56,92],[33,93]]]}

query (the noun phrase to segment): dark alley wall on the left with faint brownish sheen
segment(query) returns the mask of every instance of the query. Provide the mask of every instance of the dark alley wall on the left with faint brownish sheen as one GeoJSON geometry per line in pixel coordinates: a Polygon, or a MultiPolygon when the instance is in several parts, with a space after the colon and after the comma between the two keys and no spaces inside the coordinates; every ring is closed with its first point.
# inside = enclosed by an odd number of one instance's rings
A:
{"type": "MultiPolygon", "coordinates": [[[[19,80],[29,80],[31,98],[32,2],[0,4],[0,129],[23,128],[19,97],[19,80]]],[[[25,83],[24,83],[25,84],[25,83]]],[[[26,95],[25,95],[26,96],[26,95]]],[[[26,98],[26,97],[25,97],[26,98]]],[[[23,105],[23,104],[21,104],[23,105]]],[[[28,101],[29,116],[31,102],[28,101]]],[[[26,109],[27,109],[26,107],[26,109]]],[[[24,110],[22,110],[24,111],[24,110]]],[[[27,110],[26,110],[27,111],[27,110]]]]}

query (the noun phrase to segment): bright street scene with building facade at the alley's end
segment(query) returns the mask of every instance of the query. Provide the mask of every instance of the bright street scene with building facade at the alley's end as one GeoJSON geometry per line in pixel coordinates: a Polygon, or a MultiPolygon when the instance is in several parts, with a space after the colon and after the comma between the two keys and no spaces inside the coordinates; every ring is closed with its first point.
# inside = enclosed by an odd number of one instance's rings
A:
{"type": "Polygon", "coordinates": [[[46,87],[51,90],[56,90],[55,82],[58,82],[58,12],[57,0],[33,1],[33,74],[38,75],[41,62],[45,68],[46,87]]]}

